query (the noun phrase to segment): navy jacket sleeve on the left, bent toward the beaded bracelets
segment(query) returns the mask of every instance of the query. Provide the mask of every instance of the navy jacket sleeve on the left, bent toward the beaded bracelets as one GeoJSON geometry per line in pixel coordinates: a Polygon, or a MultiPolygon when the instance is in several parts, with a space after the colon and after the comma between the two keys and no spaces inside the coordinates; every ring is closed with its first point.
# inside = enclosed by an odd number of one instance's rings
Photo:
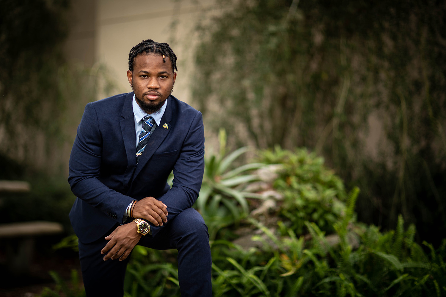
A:
{"type": "Polygon", "coordinates": [[[132,198],[112,190],[100,180],[103,131],[99,129],[95,107],[88,103],[70,155],[71,191],[79,199],[107,214],[118,223],[132,198]]]}

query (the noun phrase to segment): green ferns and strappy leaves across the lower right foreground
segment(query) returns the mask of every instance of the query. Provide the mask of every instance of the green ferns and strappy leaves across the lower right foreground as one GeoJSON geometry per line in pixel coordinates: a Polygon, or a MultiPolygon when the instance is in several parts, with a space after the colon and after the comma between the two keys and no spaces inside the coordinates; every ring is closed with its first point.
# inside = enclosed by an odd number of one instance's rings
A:
{"type": "MultiPolygon", "coordinates": [[[[348,209],[353,209],[358,193],[355,189],[349,195],[348,209]]],[[[306,222],[311,240],[305,241],[303,236],[297,239],[291,229],[287,229],[289,236],[277,237],[252,221],[272,239],[274,247],[264,242],[263,248],[248,251],[233,244],[220,248],[213,257],[216,296],[245,296],[246,292],[247,296],[318,297],[446,294],[446,240],[438,250],[428,245],[430,255],[426,255],[413,242],[413,225],[405,229],[401,216],[396,231],[387,233],[374,226],[354,226],[353,217],[347,211],[336,222],[339,244],[330,244],[315,223],[306,222]],[[351,232],[360,240],[356,247],[349,242],[351,232]]],[[[216,247],[212,246],[213,256],[216,247]]]]}

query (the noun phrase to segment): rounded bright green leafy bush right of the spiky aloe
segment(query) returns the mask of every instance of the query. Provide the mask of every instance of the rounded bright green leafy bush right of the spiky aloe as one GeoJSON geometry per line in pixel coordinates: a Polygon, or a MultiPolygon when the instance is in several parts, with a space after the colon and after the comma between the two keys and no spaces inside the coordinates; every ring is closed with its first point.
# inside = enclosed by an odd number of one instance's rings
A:
{"type": "Polygon", "coordinates": [[[305,221],[315,222],[326,232],[346,211],[346,191],[342,180],[324,166],[324,159],[306,149],[260,151],[260,162],[281,164],[283,170],[273,186],[285,195],[281,216],[291,222],[291,229],[303,234],[305,221]]]}

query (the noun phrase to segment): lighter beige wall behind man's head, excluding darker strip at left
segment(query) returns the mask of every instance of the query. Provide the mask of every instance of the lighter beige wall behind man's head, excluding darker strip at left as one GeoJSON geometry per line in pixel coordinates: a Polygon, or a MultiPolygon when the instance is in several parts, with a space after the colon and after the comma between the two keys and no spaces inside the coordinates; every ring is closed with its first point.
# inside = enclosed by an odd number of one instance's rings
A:
{"type": "Polygon", "coordinates": [[[173,95],[189,102],[192,64],[190,37],[196,20],[212,12],[213,0],[97,0],[95,61],[107,65],[122,92],[127,81],[128,52],[145,39],[167,42],[178,57],[173,95]]]}

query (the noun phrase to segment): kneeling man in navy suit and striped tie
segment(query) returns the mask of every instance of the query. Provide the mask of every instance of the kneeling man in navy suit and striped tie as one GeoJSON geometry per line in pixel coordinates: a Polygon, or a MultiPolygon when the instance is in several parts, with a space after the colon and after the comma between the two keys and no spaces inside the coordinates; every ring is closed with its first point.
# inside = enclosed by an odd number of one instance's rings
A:
{"type": "Polygon", "coordinates": [[[182,296],[212,294],[209,235],[191,208],[204,171],[202,114],[171,95],[176,60],[167,43],[142,41],[129,53],[133,92],[85,107],[68,182],[87,296],[123,296],[136,244],[177,248],[182,296]]]}

